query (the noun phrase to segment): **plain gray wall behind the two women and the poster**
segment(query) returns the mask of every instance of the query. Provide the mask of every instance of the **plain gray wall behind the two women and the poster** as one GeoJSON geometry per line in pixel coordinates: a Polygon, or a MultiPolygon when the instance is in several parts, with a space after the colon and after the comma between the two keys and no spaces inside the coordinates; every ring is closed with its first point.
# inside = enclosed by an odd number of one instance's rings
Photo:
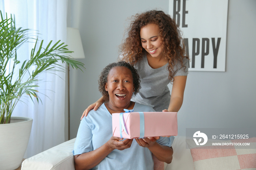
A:
{"type": "MultiPolygon", "coordinates": [[[[98,76],[117,61],[127,18],[149,9],[168,12],[168,5],[168,0],[69,1],[68,27],[79,28],[86,57],[79,59],[84,73],[70,72],[71,139],[84,109],[101,97],[98,76]]],[[[256,127],[255,18],[255,0],[229,0],[226,72],[189,72],[179,135],[185,128],[256,127]]]]}

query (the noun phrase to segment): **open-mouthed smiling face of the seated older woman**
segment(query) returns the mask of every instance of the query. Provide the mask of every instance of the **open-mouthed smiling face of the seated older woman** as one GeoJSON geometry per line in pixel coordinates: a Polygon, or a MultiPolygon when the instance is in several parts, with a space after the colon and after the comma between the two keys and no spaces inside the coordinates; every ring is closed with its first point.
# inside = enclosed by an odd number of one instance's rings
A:
{"type": "Polygon", "coordinates": [[[119,111],[128,108],[134,92],[131,70],[127,67],[113,67],[109,72],[105,90],[109,94],[110,109],[119,111]]]}

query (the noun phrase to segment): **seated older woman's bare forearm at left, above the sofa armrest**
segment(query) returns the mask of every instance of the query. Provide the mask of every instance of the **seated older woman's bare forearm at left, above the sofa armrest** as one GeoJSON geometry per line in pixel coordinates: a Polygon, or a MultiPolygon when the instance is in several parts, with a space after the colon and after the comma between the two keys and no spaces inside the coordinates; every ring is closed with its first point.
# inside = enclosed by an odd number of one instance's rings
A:
{"type": "Polygon", "coordinates": [[[108,147],[107,143],[105,143],[94,151],[83,153],[81,155],[75,155],[75,169],[91,169],[97,166],[112,151],[113,149],[108,147]]]}

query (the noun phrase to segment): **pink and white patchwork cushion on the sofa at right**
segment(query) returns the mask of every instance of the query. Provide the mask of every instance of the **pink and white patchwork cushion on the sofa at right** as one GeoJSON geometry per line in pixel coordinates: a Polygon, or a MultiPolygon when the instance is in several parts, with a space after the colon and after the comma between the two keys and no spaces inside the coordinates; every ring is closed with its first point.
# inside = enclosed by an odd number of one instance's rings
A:
{"type": "MultiPolygon", "coordinates": [[[[208,140],[209,141],[209,140],[208,140]]],[[[224,142],[211,140],[211,142],[224,142]]],[[[256,169],[256,138],[225,140],[225,143],[250,143],[250,146],[200,146],[187,139],[195,170],[256,169]]]]}

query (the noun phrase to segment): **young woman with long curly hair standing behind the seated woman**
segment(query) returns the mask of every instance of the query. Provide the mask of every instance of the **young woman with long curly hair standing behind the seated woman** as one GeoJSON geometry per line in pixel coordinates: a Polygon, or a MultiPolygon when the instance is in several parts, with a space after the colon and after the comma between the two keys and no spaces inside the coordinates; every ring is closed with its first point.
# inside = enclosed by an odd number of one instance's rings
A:
{"type": "MultiPolygon", "coordinates": [[[[134,65],[141,78],[142,88],[132,101],[149,105],[155,111],[178,112],[183,102],[189,58],[175,21],[163,11],[136,14],[121,52],[120,59],[134,65]],[[167,87],[170,82],[172,94],[167,87]]],[[[106,99],[101,97],[82,117],[104,102],[106,99]]]]}

